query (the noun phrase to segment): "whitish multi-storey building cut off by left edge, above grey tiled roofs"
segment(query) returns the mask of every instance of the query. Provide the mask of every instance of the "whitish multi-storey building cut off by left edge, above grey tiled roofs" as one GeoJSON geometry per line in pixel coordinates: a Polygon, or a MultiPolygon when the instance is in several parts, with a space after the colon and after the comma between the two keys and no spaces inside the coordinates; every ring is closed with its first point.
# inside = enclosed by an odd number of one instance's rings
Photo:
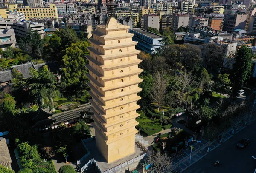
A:
{"type": "Polygon", "coordinates": [[[15,47],[16,38],[12,28],[5,28],[0,30],[0,48],[7,48],[9,46],[15,47]]]}

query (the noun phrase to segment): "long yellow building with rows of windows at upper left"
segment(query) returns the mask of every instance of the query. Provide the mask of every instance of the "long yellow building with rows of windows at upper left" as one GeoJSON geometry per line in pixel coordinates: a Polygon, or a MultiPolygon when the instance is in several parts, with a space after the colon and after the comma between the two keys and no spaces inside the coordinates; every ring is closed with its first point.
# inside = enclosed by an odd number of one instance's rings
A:
{"type": "Polygon", "coordinates": [[[30,8],[25,6],[25,8],[17,8],[17,5],[9,5],[10,11],[16,10],[18,13],[24,13],[25,19],[46,19],[46,18],[58,18],[57,8],[55,4],[49,4],[49,7],[43,8],[30,8]]]}

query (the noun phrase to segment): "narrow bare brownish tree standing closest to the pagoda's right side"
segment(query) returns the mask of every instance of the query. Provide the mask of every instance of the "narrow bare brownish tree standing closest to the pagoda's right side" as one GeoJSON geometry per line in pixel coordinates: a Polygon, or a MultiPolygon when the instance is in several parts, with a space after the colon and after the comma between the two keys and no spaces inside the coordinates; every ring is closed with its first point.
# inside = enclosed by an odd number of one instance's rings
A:
{"type": "Polygon", "coordinates": [[[150,93],[153,102],[156,102],[158,105],[158,111],[166,96],[166,86],[168,84],[168,80],[166,79],[165,75],[166,72],[159,71],[154,74],[153,88],[150,93]]]}

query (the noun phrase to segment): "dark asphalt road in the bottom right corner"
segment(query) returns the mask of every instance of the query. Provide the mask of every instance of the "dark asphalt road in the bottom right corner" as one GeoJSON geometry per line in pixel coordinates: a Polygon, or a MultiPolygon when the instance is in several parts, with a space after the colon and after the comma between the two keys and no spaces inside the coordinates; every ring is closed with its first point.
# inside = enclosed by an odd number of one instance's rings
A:
{"type": "Polygon", "coordinates": [[[183,173],[254,173],[256,160],[252,155],[256,157],[256,122],[212,150],[183,173]],[[250,139],[250,145],[241,150],[236,144],[244,137],[250,139]],[[214,167],[215,160],[221,161],[217,167],[214,167]]]}

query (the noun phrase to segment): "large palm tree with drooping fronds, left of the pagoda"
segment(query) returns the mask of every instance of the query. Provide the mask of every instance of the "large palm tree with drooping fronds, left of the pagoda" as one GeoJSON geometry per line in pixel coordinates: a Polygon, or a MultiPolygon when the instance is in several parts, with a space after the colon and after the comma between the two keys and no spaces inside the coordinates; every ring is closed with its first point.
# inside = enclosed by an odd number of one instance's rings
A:
{"type": "Polygon", "coordinates": [[[41,101],[41,105],[44,105],[44,99],[51,101],[50,109],[55,111],[53,97],[59,95],[59,88],[64,88],[66,83],[57,82],[54,74],[49,72],[47,65],[42,69],[36,71],[34,68],[29,68],[29,74],[27,84],[31,89],[31,94],[36,95],[41,101]]]}

